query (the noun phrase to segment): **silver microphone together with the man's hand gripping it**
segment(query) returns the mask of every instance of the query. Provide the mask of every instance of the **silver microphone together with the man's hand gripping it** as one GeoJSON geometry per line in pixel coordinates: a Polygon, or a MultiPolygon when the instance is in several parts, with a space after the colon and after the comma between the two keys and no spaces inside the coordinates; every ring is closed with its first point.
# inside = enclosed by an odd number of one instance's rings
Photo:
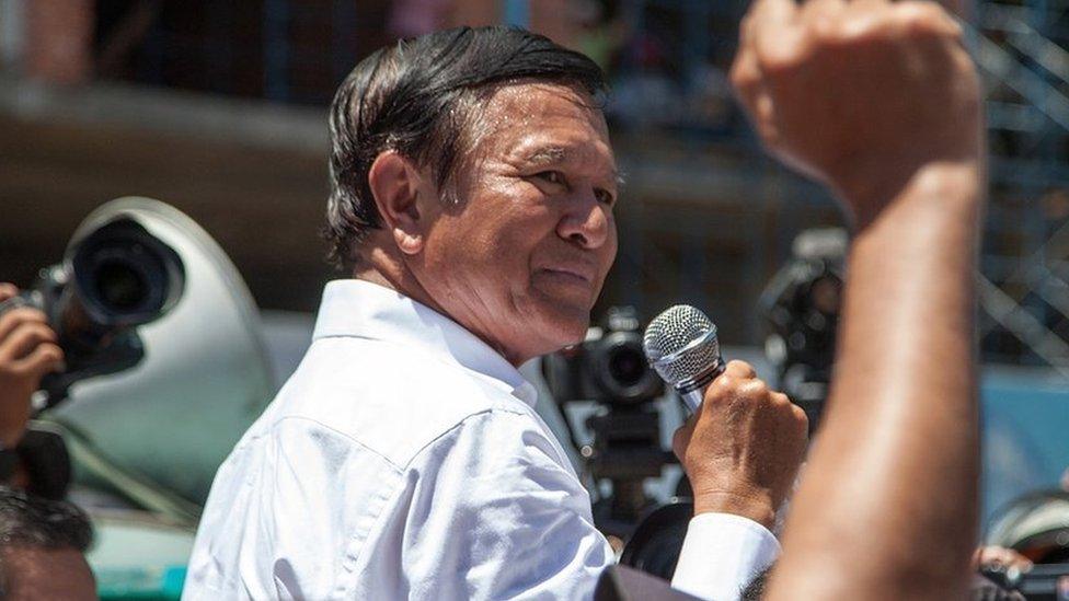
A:
{"type": "Polygon", "coordinates": [[[805,412],[748,363],[725,366],[716,326],[693,307],[657,315],[642,346],[692,412],[673,450],[690,478],[694,513],[742,516],[771,530],[805,453],[805,412]]]}

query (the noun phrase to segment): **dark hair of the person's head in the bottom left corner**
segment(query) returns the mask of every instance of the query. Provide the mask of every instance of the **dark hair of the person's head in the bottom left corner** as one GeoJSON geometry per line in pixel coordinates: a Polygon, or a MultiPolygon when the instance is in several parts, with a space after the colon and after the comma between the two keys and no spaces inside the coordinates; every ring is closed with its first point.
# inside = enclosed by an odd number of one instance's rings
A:
{"type": "Polygon", "coordinates": [[[0,486],[0,547],[74,548],[84,553],[93,528],[78,507],[0,486]]]}

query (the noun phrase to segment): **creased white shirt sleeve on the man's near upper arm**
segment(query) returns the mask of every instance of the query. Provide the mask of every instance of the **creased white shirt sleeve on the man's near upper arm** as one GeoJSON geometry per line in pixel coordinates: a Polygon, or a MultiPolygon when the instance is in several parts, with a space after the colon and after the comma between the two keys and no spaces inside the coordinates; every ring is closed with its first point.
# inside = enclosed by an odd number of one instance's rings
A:
{"type": "Polygon", "coordinates": [[[530,416],[471,416],[410,477],[402,571],[414,599],[591,599],[612,550],[530,416]]]}

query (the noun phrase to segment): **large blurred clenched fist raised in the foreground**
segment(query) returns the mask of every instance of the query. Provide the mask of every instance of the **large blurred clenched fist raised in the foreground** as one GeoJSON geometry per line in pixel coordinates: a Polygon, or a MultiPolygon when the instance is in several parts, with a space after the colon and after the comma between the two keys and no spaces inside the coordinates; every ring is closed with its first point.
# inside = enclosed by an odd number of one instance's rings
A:
{"type": "Polygon", "coordinates": [[[732,81],[768,150],[860,226],[926,165],[980,163],[976,69],[935,2],[756,0],[732,81]]]}

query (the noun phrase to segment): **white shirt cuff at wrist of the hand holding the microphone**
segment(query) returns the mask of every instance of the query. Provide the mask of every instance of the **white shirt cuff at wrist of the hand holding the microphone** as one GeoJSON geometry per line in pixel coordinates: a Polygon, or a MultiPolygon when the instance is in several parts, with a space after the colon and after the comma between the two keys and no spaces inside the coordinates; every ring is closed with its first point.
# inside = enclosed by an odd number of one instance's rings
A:
{"type": "Polygon", "coordinates": [[[779,555],[780,542],[754,520],[700,513],[687,528],[671,586],[702,599],[737,601],[779,555]]]}

